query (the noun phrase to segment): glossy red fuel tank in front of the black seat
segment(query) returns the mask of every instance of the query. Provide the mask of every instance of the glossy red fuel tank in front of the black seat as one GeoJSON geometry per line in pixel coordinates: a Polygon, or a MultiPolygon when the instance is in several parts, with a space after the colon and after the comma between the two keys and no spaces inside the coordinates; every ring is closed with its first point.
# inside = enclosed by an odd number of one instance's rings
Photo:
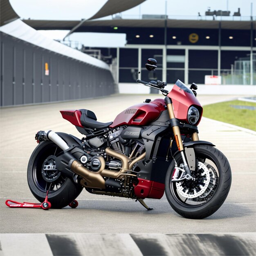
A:
{"type": "Polygon", "coordinates": [[[121,125],[147,125],[157,119],[164,110],[166,110],[164,99],[154,99],[149,103],[139,103],[117,115],[110,127],[114,128],[121,125]]]}

